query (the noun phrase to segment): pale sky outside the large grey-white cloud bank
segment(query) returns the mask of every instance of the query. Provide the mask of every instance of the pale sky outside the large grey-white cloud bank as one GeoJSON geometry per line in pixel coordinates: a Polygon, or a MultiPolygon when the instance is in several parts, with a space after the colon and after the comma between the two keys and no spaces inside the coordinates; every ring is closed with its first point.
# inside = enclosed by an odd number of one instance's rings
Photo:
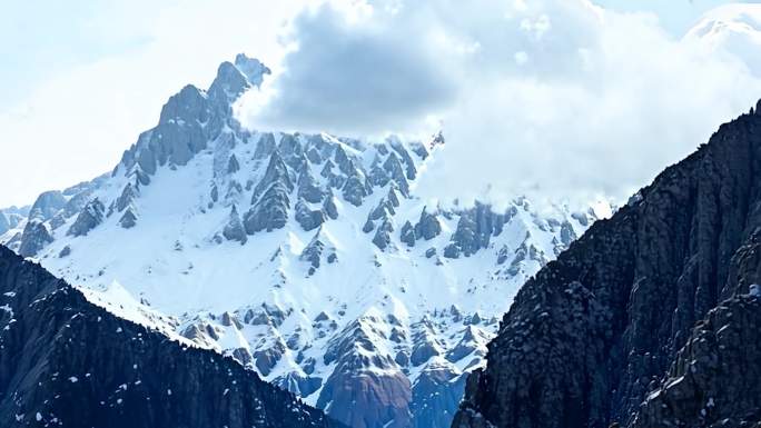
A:
{"type": "MultiPolygon", "coordinates": [[[[0,168],[0,207],[111,169],[171,93],[205,87],[235,53],[278,58],[277,33],[304,1],[0,0],[0,152],[16,159],[0,168]]],[[[674,39],[730,3],[594,2],[653,12],[674,39]]]]}

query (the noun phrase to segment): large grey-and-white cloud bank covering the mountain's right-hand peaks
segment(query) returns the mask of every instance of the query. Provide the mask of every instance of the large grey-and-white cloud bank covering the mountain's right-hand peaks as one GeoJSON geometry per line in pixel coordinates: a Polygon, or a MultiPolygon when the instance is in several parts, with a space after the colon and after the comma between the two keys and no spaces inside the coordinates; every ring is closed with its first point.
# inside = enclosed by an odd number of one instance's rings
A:
{"type": "Polygon", "coordinates": [[[284,43],[280,73],[243,100],[243,120],[339,135],[441,127],[424,196],[622,200],[761,97],[742,58],[585,0],[324,2],[284,43]]]}

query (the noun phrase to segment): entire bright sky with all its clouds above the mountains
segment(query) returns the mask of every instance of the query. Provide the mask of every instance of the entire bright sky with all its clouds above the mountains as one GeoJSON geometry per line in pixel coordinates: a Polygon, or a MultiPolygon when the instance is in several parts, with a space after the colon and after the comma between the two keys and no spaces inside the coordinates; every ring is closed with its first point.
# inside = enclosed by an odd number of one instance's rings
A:
{"type": "Polygon", "coordinates": [[[109,171],[169,96],[241,51],[276,70],[240,106],[250,127],[443,128],[431,182],[625,193],[761,93],[743,51],[682,41],[725,3],[0,0],[0,207],[109,171]]]}

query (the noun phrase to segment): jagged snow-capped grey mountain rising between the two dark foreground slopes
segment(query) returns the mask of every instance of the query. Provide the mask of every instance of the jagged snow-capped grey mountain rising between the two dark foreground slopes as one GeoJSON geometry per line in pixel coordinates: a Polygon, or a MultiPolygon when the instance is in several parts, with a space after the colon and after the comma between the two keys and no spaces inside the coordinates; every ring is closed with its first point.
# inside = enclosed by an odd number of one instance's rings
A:
{"type": "Polygon", "coordinates": [[[42,193],[2,242],[352,427],[448,426],[518,287],[611,207],[423,200],[442,135],[245,129],[234,103],[267,73],[240,54],[182,88],[111,173],[42,193]]]}

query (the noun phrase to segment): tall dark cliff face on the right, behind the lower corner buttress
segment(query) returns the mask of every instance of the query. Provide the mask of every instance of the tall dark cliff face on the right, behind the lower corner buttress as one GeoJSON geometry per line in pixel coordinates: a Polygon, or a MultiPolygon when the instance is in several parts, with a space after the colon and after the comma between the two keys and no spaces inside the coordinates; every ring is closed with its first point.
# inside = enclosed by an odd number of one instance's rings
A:
{"type": "Polygon", "coordinates": [[[631,424],[695,321],[759,279],[759,171],[751,111],[593,225],[518,292],[454,426],[631,424]]]}

